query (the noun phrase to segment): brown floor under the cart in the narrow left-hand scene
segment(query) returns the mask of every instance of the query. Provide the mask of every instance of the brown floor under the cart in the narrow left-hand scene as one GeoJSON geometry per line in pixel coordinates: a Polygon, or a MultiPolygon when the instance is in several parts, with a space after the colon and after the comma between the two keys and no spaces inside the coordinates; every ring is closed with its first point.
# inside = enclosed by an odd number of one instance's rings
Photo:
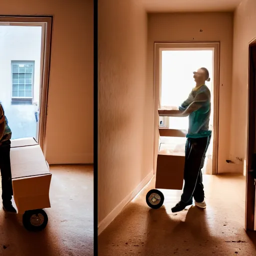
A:
{"type": "Polygon", "coordinates": [[[51,166],[51,208],[41,232],[29,232],[22,215],[6,214],[0,205],[0,255],[93,255],[93,167],[51,166]]]}

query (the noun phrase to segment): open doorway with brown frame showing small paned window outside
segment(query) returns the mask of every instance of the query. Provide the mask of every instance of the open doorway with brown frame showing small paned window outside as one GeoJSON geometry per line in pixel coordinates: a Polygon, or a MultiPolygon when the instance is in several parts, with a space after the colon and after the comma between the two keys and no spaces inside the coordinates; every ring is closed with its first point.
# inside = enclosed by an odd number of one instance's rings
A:
{"type": "Polygon", "coordinates": [[[0,16],[0,101],[12,139],[34,137],[43,149],[51,17],[0,16]]]}

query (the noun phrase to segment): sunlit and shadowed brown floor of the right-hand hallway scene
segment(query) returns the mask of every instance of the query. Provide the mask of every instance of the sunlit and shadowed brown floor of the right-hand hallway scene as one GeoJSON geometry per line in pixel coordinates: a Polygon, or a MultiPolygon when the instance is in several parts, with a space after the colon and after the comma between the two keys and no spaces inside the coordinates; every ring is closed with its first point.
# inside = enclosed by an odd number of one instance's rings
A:
{"type": "Polygon", "coordinates": [[[172,213],[181,191],[162,190],[164,205],[150,209],[146,192],[130,202],[98,237],[99,256],[256,255],[255,232],[244,230],[245,178],[204,175],[207,208],[172,213]]]}

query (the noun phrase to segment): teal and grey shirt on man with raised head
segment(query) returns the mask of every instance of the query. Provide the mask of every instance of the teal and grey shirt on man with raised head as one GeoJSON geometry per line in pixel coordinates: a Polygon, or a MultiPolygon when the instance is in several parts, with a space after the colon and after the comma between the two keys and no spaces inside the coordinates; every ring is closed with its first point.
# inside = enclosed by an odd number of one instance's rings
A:
{"type": "Polygon", "coordinates": [[[179,110],[184,111],[191,103],[196,104],[197,107],[188,116],[186,137],[200,138],[211,135],[211,130],[209,130],[210,90],[205,84],[193,88],[188,98],[179,106],[179,110]]]}

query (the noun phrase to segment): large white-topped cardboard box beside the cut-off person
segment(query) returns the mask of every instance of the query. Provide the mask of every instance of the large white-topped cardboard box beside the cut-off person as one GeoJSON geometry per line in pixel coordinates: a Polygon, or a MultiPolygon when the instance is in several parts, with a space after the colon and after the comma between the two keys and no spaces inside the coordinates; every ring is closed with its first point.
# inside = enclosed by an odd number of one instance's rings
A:
{"type": "Polygon", "coordinates": [[[10,165],[13,197],[18,213],[49,208],[51,173],[34,138],[11,140],[10,165]]]}

